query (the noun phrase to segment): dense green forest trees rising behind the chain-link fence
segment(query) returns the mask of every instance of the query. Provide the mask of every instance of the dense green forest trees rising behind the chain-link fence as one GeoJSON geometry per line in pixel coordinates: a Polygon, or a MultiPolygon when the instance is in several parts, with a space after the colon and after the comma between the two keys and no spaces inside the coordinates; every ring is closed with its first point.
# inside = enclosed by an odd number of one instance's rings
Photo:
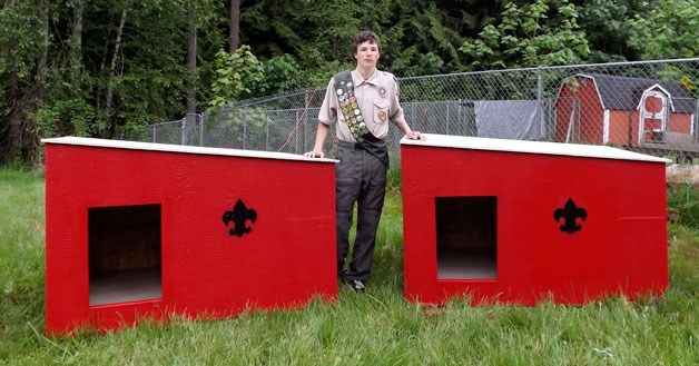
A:
{"type": "MultiPolygon", "coordinates": [[[[214,0],[1,2],[0,164],[23,157],[40,137],[111,138],[179,119],[190,80],[203,108],[324,87],[334,73],[355,67],[352,38],[365,29],[383,41],[381,68],[397,77],[696,57],[699,49],[697,0],[377,0],[372,6],[255,0],[240,7],[240,42],[249,53],[233,60],[219,55],[228,44],[228,6],[214,0]],[[186,62],[191,27],[197,36],[193,75],[186,62]],[[46,41],[43,83],[38,60],[46,41]]],[[[669,77],[698,85],[689,71],[669,77]]],[[[442,97],[440,90],[410,86],[405,92],[425,100],[442,97]]]]}

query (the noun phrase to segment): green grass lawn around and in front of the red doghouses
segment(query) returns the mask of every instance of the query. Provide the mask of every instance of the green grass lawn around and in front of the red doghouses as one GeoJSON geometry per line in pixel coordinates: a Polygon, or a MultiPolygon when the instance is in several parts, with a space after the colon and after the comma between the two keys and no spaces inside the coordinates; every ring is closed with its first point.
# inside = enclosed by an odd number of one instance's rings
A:
{"type": "Polygon", "coordinates": [[[691,225],[669,226],[670,288],[660,299],[419,306],[402,295],[402,202],[392,188],[364,295],[341,287],[335,303],[316,300],[299,310],[200,323],[175,318],[106,335],[47,338],[43,177],[0,168],[0,364],[699,364],[699,228],[691,225]]]}

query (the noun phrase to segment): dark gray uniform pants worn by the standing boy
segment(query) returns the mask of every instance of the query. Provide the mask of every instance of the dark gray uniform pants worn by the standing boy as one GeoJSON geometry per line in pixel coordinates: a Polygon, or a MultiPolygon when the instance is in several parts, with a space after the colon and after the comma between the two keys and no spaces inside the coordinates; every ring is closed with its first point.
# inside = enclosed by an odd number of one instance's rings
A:
{"type": "Polygon", "coordinates": [[[358,144],[338,141],[335,169],[337,210],[337,273],[346,279],[365,280],[372,269],[376,229],[386,195],[387,151],[358,144]],[[380,159],[378,157],[382,157],[380,159]],[[384,162],[385,161],[385,162],[384,162]],[[350,267],[350,227],[354,204],[357,204],[357,229],[350,267]]]}

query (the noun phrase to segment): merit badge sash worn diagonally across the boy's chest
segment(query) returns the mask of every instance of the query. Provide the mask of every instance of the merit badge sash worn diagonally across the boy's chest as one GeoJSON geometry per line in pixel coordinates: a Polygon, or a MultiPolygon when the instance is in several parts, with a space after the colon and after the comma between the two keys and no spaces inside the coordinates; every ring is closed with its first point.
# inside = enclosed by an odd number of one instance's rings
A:
{"type": "Polygon", "coordinates": [[[345,118],[345,122],[350,128],[350,132],[355,140],[357,140],[360,146],[388,166],[388,149],[386,147],[386,141],[372,135],[366,127],[366,121],[364,116],[362,116],[357,98],[354,96],[352,72],[342,71],[335,75],[334,78],[337,102],[339,103],[339,109],[345,118]]]}

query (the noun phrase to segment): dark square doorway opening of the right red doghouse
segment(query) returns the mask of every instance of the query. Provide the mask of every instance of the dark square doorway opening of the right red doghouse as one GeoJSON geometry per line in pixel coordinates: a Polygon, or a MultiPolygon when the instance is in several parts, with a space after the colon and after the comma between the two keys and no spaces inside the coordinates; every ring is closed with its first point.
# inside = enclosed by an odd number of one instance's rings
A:
{"type": "Polygon", "coordinates": [[[498,278],[498,197],[435,197],[439,279],[498,278]]]}

